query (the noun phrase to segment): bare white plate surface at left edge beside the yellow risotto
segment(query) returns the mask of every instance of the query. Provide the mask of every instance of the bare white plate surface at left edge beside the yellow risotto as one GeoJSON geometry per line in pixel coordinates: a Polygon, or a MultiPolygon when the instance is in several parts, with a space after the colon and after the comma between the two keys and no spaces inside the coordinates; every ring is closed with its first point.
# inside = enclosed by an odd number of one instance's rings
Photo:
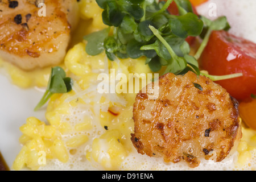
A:
{"type": "MultiPolygon", "coordinates": [[[[2,69],[2,68],[1,68],[2,69]]],[[[10,83],[9,78],[0,71],[0,151],[9,168],[13,165],[21,145],[19,127],[28,117],[34,116],[45,121],[44,110],[34,112],[43,93],[38,90],[20,89],[10,83]]]]}

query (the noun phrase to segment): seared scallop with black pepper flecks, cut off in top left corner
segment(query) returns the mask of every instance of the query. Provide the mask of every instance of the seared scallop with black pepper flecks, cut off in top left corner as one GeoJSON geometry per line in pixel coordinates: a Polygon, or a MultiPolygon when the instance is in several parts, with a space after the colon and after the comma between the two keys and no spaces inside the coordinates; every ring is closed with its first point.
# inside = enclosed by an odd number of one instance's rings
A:
{"type": "Polygon", "coordinates": [[[77,8],[76,0],[0,1],[0,57],[26,71],[59,64],[77,8]],[[37,7],[40,2],[45,6],[37,7]]]}

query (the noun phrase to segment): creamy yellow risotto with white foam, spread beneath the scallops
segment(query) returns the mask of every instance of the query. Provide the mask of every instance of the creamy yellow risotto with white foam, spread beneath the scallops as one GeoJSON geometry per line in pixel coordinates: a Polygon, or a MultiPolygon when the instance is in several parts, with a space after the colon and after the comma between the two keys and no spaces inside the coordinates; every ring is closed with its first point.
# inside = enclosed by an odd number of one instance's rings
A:
{"type": "MultiPolygon", "coordinates": [[[[54,94],[48,102],[46,121],[27,118],[20,127],[22,149],[12,169],[32,170],[177,170],[192,169],[183,163],[164,163],[162,159],[138,154],[130,140],[134,131],[133,103],[136,93],[97,92],[100,73],[152,73],[145,60],[109,61],[105,53],[89,56],[82,36],[105,27],[96,1],[82,0],[80,24],[73,32],[71,47],[60,65],[72,77],[73,90],[54,94]]],[[[11,80],[21,88],[47,86],[51,68],[24,72],[0,60],[11,80]]],[[[122,80],[129,84],[129,80],[122,80]]],[[[144,86],[144,85],[141,85],[144,86]]],[[[238,150],[220,163],[202,161],[193,170],[255,170],[256,131],[242,127],[238,150]]]]}

